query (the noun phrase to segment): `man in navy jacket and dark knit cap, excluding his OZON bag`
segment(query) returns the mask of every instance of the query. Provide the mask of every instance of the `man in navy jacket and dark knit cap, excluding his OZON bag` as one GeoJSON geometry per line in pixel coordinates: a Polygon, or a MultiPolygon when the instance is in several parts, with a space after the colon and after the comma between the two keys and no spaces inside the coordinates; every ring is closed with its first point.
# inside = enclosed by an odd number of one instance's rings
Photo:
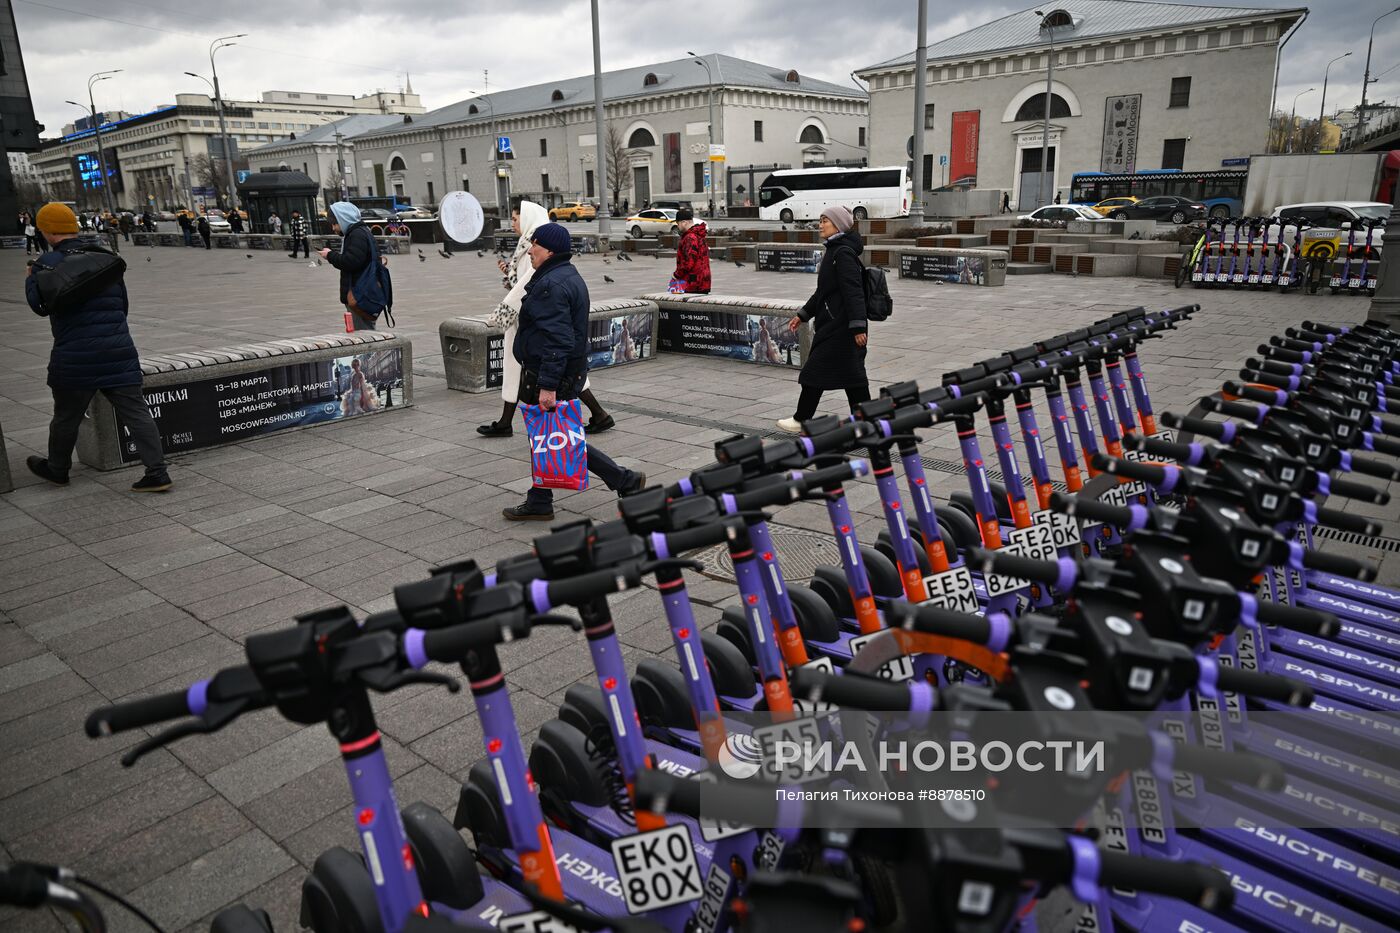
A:
{"type": "MultiPolygon", "coordinates": [[[[525,284],[511,352],[522,370],[521,401],[552,412],[559,402],[578,398],[588,378],[588,286],[571,262],[568,231],[560,224],[535,228],[529,259],[535,275],[525,284]]],[[[645,474],[619,466],[592,444],[588,471],[623,496],[647,485],[645,474]]],[[[524,503],[501,514],[508,521],[552,521],[554,492],[532,486],[524,503]]]]}

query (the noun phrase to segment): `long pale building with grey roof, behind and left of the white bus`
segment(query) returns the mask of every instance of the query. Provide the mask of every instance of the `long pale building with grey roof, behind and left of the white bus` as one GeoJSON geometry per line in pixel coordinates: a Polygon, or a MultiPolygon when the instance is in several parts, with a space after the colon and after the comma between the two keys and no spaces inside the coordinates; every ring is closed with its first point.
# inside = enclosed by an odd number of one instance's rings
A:
{"type": "MultiPolygon", "coordinates": [[[[602,76],[606,125],[626,148],[619,199],[708,200],[710,111],[725,147],[720,205],[750,202],[774,165],[860,164],[865,92],[791,69],[707,55],[602,76]]],[[[510,195],[553,205],[598,198],[592,76],[493,91],[354,140],[363,193],[437,203],[470,191],[487,207],[510,195]],[[493,139],[508,151],[493,150],[493,139]]],[[[610,192],[609,192],[610,195],[610,192]]]]}

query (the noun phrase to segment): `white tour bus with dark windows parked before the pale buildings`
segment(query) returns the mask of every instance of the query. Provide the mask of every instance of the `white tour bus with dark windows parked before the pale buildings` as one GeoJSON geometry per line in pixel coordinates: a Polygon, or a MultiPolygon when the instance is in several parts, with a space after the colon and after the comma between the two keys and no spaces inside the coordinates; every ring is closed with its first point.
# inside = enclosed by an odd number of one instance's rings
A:
{"type": "Polygon", "coordinates": [[[759,217],[816,220],[833,205],[850,207],[857,220],[907,217],[913,188],[903,165],[883,168],[791,168],[763,179],[759,217]]]}

